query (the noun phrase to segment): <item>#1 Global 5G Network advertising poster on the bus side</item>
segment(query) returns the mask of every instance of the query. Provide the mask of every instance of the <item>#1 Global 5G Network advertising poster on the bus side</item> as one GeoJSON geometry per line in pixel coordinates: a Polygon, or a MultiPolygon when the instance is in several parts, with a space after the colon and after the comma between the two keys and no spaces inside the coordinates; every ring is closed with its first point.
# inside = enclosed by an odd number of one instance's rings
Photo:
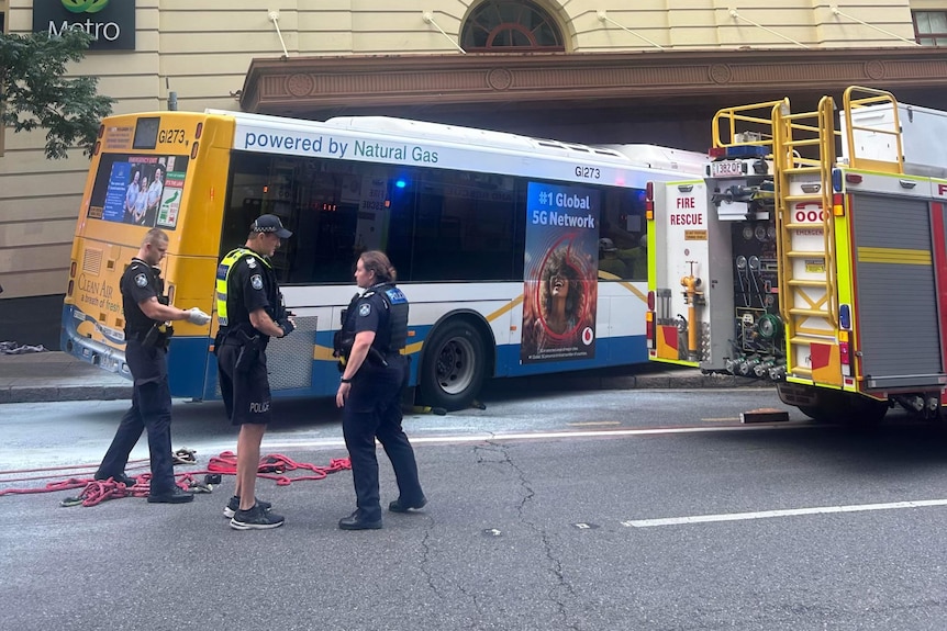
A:
{"type": "Polygon", "coordinates": [[[521,363],[595,357],[599,191],[530,182],[521,363]]]}

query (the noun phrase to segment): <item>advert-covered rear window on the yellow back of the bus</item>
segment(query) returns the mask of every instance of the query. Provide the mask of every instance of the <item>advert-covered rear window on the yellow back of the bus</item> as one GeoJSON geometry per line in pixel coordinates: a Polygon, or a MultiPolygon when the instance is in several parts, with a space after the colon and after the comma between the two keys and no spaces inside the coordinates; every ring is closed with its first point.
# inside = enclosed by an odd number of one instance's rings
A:
{"type": "Polygon", "coordinates": [[[103,154],[92,187],[89,218],[175,229],[188,156],[103,154]]]}

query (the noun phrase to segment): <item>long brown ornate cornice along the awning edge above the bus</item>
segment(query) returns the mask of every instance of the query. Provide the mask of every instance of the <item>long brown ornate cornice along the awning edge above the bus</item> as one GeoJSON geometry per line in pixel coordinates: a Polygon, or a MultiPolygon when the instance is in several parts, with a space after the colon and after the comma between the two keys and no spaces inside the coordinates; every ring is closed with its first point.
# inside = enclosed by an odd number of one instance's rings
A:
{"type": "Polygon", "coordinates": [[[662,50],[584,54],[390,55],[254,59],[245,111],[460,103],[650,101],[669,97],[833,93],[947,87],[943,48],[662,50]]]}

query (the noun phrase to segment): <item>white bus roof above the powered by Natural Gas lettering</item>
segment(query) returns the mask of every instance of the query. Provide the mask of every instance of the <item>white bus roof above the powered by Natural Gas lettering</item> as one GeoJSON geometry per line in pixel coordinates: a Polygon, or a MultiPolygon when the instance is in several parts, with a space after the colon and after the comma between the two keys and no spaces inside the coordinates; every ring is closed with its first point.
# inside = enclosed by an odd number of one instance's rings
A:
{"type": "Polygon", "coordinates": [[[706,156],[658,145],[582,145],[546,138],[521,136],[506,132],[445,125],[393,116],[335,116],[325,122],[250,114],[230,110],[205,110],[208,114],[232,116],[237,122],[264,123],[309,132],[352,131],[401,140],[435,140],[490,149],[526,151],[557,158],[594,159],[616,167],[638,167],[664,171],[701,174],[706,156]]]}

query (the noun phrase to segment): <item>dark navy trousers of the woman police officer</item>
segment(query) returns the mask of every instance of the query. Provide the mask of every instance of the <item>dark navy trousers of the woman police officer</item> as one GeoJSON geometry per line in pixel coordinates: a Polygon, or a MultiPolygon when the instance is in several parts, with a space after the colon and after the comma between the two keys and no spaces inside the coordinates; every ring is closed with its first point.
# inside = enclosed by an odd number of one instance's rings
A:
{"type": "Polygon", "coordinates": [[[352,460],[356,506],[368,521],[381,519],[376,438],[394,469],[400,497],[414,503],[424,495],[414,450],[401,429],[401,388],[406,376],[408,362],[401,356],[389,360],[387,369],[364,365],[352,380],[345,403],[342,431],[352,460]]]}

